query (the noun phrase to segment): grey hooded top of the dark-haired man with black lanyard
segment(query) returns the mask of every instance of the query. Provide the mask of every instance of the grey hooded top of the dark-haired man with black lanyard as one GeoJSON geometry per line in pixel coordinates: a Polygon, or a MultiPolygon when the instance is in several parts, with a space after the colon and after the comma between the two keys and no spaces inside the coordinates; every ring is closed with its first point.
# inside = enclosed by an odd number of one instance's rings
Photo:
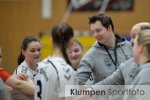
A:
{"type": "MultiPolygon", "coordinates": [[[[131,49],[130,42],[117,35],[115,48],[106,47],[103,44],[95,42],[82,58],[77,69],[77,77],[80,84],[85,84],[91,73],[93,73],[94,78],[93,84],[111,75],[121,63],[132,57],[131,49]],[[116,54],[114,53],[115,50],[116,54]]],[[[88,83],[86,84],[88,85],[88,83]]]]}

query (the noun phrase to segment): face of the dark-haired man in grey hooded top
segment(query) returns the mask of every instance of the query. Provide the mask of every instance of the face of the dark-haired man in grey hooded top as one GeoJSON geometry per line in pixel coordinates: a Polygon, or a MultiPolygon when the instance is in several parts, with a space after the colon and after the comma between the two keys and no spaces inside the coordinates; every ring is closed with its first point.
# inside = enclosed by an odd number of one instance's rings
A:
{"type": "Polygon", "coordinates": [[[100,21],[91,24],[91,32],[94,38],[102,44],[105,44],[110,37],[110,28],[106,29],[100,21]]]}

